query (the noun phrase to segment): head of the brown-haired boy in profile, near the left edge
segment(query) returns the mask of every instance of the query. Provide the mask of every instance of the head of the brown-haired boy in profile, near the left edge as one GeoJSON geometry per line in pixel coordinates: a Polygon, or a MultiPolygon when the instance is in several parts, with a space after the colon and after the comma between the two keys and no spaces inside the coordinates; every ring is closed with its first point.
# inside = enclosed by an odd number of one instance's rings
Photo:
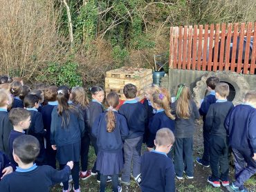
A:
{"type": "Polygon", "coordinates": [[[12,108],[9,119],[14,127],[28,129],[30,126],[30,113],[25,108],[12,108]]]}

